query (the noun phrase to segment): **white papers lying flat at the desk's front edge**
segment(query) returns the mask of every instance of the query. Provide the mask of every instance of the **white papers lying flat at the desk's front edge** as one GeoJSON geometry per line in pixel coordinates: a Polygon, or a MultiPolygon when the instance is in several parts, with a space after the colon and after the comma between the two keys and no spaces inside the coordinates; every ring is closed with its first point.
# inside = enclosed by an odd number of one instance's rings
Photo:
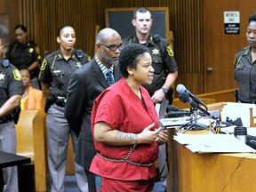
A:
{"type": "Polygon", "coordinates": [[[229,134],[183,134],[173,136],[173,140],[186,145],[193,153],[255,153],[256,150],[245,145],[229,134]]]}

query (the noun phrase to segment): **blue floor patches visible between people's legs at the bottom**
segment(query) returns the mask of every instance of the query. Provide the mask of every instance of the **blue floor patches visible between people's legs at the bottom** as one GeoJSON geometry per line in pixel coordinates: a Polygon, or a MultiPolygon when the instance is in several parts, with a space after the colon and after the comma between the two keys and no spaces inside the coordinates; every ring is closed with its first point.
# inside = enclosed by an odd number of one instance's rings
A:
{"type": "MultiPolygon", "coordinates": [[[[49,180],[47,181],[47,192],[50,192],[49,188],[49,180]]],[[[155,183],[155,187],[153,189],[153,192],[164,192],[164,187],[160,181],[155,183]]],[[[71,176],[65,176],[65,189],[64,192],[79,192],[79,189],[77,188],[76,185],[76,176],[71,175],[71,176]]]]}

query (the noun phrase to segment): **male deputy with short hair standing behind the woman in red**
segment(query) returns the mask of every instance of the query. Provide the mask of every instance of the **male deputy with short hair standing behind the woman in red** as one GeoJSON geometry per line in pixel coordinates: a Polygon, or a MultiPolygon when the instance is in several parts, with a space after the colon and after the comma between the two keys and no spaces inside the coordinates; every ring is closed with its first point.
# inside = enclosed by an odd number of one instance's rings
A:
{"type": "MultiPolygon", "coordinates": [[[[124,44],[143,44],[148,47],[152,56],[152,66],[155,69],[152,84],[142,84],[149,92],[153,102],[161,103],[159,117],[164,117],[164,112],[172,104],[172,85],[178,76],[178,67],[174,59],[172,46],[158,35],[150,34],[153,20],[151,13],[145,7],[140,7],[133,12],[132,25],[135,27],[135,36],[125,38],[124,44]],[[167,99],[167,100],[166,100],[167,99]]],[[[165,145],[159,148],[159,168],[164,168],[165,145]]],[[[167,174],[164,170],[163,175],[167,174]]],[[[164,182],[164,180],[163,180],[164,182]]]]}

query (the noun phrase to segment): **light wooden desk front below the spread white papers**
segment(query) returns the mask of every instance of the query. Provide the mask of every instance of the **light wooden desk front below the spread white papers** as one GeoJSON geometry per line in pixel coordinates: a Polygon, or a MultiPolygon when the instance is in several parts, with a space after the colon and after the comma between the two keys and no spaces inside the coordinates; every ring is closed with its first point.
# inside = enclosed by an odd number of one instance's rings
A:
{"type": "Polygon", "coordinates": [[[178,143],[180,192],[252,192],[256,189],[256,155],[198,154],[178,143]]]}

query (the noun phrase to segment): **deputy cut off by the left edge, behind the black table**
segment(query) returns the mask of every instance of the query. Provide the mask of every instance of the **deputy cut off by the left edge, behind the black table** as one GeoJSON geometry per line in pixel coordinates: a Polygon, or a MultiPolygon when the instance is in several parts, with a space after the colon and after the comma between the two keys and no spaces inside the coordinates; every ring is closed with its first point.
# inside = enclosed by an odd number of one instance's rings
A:
{"type": "MultiPolygon", "coordinates": [[[[19,70],[9,60],[2,59],[3,52],[4,46],[0,39],[0,150],[16,154],[16,132],[13,117],[17,116],[14,116],[12,112],[20,106],[24,86],[19,70]]],[[[4,192],[19,191],[17,167],[4,168],[3,172],[4,192]]]]}

